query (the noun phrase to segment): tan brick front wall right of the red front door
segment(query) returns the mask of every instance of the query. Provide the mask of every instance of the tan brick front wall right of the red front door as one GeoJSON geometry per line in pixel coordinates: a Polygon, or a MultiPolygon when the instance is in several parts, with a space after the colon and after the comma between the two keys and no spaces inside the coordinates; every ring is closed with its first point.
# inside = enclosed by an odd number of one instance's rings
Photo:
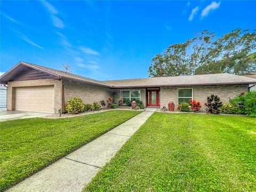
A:
{"type": "Polygon", "coordinates": [[[160,107],[167,107],[167,103],[173,101],[175,110],[178,105],[178,88],[193,88],[193,99],[200,101],[202,111],[204,111],[204,103],[206,98],[211,94],[217,94],[222,103],[229,102],[229,98],[247,92],[248,85],[215,85],[215,86],[190,86],[190,87],[161,87],[160,89],[160,107]]]}

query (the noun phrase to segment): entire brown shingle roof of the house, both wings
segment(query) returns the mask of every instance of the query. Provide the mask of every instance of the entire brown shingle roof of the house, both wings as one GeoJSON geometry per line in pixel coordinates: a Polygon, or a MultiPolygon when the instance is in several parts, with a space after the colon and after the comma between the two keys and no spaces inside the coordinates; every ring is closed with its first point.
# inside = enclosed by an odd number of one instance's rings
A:
{"type": "MultiPolygon", "coordinates": [[[[111,81],[97,81],[95,79],[74,75],[64,71],[51,69],[35,65],[29,62],[20,61],[17,65],[1,76],[1,82],[8,82],[15,73],[12,71],[19,65],[31,67],[49,73],[54,78],[71,79],[83,83],[105,86],[110,88],[126,87],[160,87],[160,86],[195,86],[195,85],[235,85],[235,84],[256,84],[256,79],[232,74],[209,74],[209,75],[191,75],[191,76],[173,76],[173,77],[152,77],[137,79],[119,79],[111,81]]],[[[253,75],[250,75],[253,76],[253,75]]]]}

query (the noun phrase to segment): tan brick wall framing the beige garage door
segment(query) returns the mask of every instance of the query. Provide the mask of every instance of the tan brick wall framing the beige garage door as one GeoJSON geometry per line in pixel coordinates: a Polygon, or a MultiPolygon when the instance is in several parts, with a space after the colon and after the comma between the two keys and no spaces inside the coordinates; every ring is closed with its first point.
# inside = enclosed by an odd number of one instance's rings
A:
{"type": "Polygon", "coordinates": [[[61,81],[56,79],[36,79],[28,81],[14,81],[7,83],[7,110],[15,110],[15,87],[54,85],[54,108],[61,108],[61,81]]]}

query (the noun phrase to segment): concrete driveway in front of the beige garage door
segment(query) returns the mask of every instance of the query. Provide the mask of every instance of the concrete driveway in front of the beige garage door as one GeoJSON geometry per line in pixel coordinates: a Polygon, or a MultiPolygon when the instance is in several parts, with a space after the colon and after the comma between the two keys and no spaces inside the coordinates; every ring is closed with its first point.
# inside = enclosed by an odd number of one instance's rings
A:
{"type": "Polygon", "coordinates": [[[0,122],[13,120],[13,119],[43,117],[46,115],[51,115],[51,114],[29,112],[29,111],[7,111],[6,109],[0,109],[0,122]]]}

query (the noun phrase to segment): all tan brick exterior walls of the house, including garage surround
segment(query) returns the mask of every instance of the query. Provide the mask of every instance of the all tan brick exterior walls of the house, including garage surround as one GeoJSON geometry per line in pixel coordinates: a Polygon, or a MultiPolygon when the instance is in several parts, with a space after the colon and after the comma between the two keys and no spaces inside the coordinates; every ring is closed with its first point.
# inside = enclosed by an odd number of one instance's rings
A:
{"type": "MultiPolygon", "coordinates": [[[[45,86],[54,85],[54,108],[62,108],[62,85],[65,106],[67,100],[73,97],[79,97],[84,103],[99,102],[100,100],[107,100],[107,98],[115,91],[117,103],[121,99],[121,90],[140,90],[140,97],[146,106],[146,89],[109,89],[107,87],[93,86],[87,84],[78,84],[70,82],[62,82],[56,79],[36,79],[28,81],[14,81],[7,84],[7,110],[15,110],[15,87],[29,87],[29,86],[45,86]]],[[[217,94],[222,103],[229,102],[229,98],[234,98],[242,92],[247,92],[249,85],[215,85],[215,86],[191,86],[191,87],[161,87],[159,92],[160,107],[167,106],[167,103],[173,101],[175,110],[178,105],[178,88],[193,88],[193,99],[202,103],[202,110],[204,110],[204,103],[206,97],[210,94],[217,94]]],[[[65,109],[64,109],[65,111],[65,109]]]]}

